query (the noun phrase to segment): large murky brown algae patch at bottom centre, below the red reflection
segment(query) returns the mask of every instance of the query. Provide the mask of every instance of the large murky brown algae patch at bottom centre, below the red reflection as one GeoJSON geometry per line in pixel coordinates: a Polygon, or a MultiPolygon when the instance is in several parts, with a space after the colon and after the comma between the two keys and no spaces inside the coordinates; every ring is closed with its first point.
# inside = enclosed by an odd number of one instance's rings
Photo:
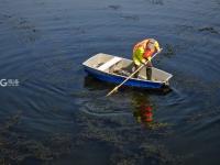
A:
{"type": "Polygon", "coordinates": [[[85,146],[88,141],[100,142],[111,151],[109,155],[111,164],[182,163],[179,156],[172,155],[166,146],[158,141],[161,136],[160,129],[129,128],[120,124],[120,119],[119,121],[109,118],[97,119],[88,114],[80,114],[77,122],[79,124],[84,123],[75,140],[77,147],[85,146]],[[106,121],[113,122],[114,127],[110,127],[106,121]]]}

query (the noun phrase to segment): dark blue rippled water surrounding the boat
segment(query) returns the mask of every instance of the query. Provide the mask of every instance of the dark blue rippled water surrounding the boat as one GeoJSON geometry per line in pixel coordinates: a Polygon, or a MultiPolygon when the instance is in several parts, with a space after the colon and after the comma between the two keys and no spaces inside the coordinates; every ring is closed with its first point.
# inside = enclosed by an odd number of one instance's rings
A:
{"type": "Polygon", "coordinates": [[[219,165],[219,0],[0,0],[0,164],[219,165]],[[173,91],[103,97],[81,63],[145,37],[173,91]]]}

